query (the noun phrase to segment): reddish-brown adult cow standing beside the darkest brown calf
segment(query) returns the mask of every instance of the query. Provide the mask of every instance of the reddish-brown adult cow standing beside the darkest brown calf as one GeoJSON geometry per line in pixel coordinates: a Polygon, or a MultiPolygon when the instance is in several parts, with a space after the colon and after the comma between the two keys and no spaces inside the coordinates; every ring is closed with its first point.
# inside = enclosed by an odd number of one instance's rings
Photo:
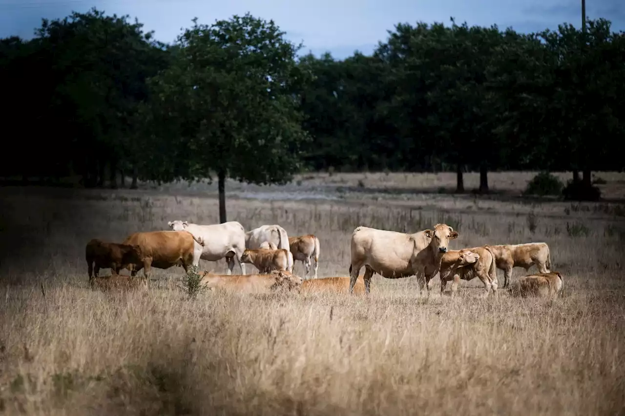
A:
{"type": "Polygon", "coordinates": [[[124,269],[130,270],[132,276],[144,269],[143,275],[147,278],[151,267],[169,269],[181,265],[187,272],[190,265],[199,264],[204,248],[202,237],[188,231],[135,232],[128,235],[123,244],[139,245],[141,249],[141,260],[129,262],[124,269]]]}

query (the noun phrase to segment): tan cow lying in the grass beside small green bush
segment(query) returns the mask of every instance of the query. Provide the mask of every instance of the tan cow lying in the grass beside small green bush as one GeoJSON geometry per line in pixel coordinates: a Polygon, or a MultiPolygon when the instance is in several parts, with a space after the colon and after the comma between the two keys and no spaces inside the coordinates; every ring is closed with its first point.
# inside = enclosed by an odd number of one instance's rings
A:
{"type": "Polygon", "coordinates": [[[278,289],[297,290],[302,278],[287,270],[274,270],[269,274],[214,274],[204,272],[201,284],[207,289],[225,289],[247,293],[270,293],[278,289]]]}

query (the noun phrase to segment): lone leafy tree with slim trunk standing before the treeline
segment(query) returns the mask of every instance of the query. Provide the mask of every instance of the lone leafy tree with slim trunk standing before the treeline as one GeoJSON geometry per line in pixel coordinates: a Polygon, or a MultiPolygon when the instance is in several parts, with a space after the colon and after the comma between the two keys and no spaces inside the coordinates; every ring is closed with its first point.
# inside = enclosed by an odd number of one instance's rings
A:
{"type": "Polygon", "coordinates": [[[217,176],[219,220],[226,222],[226,177],[255,184],[291,181],[301,167],[299,92],[309,79],[295,46],[273,21],[247,13],[178,37],[169,69],[151,82],[154,132],[171,163],[152,179],[217,176]]]}

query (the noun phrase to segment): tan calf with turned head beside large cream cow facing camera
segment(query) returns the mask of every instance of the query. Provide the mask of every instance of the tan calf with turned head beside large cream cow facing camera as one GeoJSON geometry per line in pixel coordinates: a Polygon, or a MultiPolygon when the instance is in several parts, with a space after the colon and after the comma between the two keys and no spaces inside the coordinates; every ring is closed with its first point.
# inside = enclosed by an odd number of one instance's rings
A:
{"type": "Polygon", "coordinates": [[[455,294],[460,279],[471,280],[479,277],[484,284],[486,297],[492,289],[492,294],[497,297],[497,273],[495,268],[494,254],[489,246],[472,247],[471,249],[449,250],[441,257],[441,294],[444,292],[447,282],[453,280],[451,292],[455,294]]]}

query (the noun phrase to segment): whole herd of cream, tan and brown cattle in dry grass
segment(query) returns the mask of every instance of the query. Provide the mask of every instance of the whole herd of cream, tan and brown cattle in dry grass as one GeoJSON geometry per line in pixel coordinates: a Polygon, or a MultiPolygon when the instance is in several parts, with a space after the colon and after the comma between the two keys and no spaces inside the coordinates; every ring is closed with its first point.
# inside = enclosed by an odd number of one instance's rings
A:
{"type": "Polygon", "coordinates": [[[147,286],[152,267],[169,269],[181,266],[185,272],[199,260],[226,259],[227,274],[200,272],[201,283],[209,289],[229,289],[240,292],[270,292],[287,290],[334,290],[366,293],[371,289],[371,277],[387,279],[416,276],[419,291],[430,290],[430,281],[439,274],[441,293],[451,281],[455,293],[460,280],[478,277],[484,284],[484,296],[497,296],[496,269],[504,271],[504,288],[511,295],[557,297],[563,280],[559,272],[551,272],[549,246],[544,242],[513,245],[482,245],[481,247],[450,250],[449,241],[457,239],[457,231],[446,224],[433,229],[405,234],[370,227],[357,227],[351,235],[351,264],[349,277],[317,278],[319,268],[319,239],[313,234],[288,237],[280,225],[262,225],[245,231],[237,221],[223,224],[199,225],[183,220],[168,222],[169,230],[135,232],[121,243],[90,240],[86,247],[89,282],[100,287],[111,285],[147,286]],[[293,274],[294,260],[304,265],[302,279],[293,274]],[[234,265],[240,275],[232,274],[234,265]],[[252,264],[258,274],[246,274],[246,264],[252,264]],[[509,285],[513,267],[526,272],[536,265],[537,274],[526,275],[509,285]],[[365,268],[364,275],[359,272],[365,268]],[[111,269],[111,275],[99,277],[99,270],[111,269]],[[120,275],[127,269],[131,275],[120,275]],[[143,269],[144,279],[136,277],[143,269]]]}

